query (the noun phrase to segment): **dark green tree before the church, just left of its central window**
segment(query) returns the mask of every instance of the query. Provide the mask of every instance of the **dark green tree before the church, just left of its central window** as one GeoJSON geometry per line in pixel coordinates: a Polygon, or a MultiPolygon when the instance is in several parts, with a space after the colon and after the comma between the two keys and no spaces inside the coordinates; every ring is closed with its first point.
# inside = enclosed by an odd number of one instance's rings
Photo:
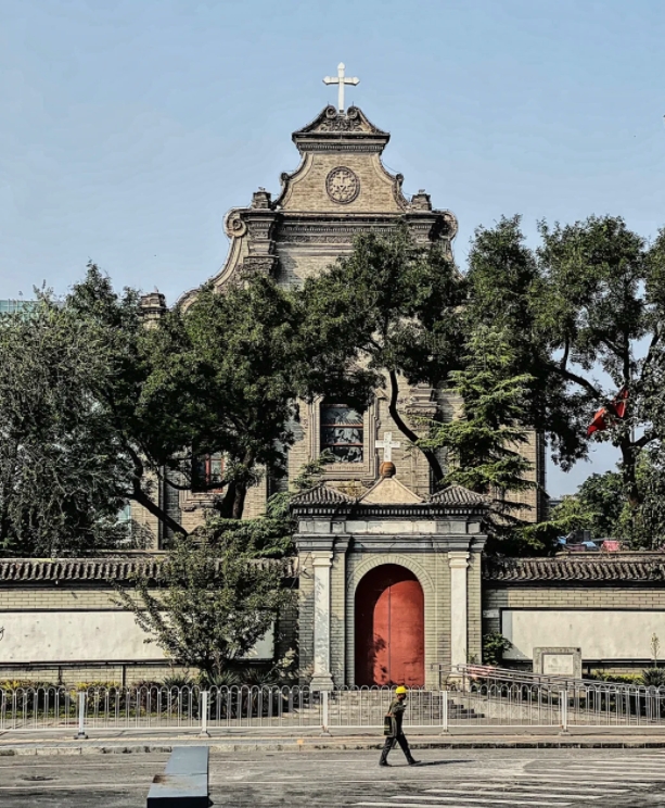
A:
{"type": "MultiPolygon", "coordinates": [[[[186,429],[177,440],[192,456],[223,453],[225,517],[242,516],[247,489],[261,474],[283,476],[298,400],[356,397],[367,387],[365,371],[307,333],[303,300],[261,276],[223,293],[203,288],[187,311],[167,314],[153,338],[148,401],[165,421],[181,418],[186,429]]],[[[178,463],[191,468],[191,457],[168,465],[175,470],[178,463]]],[[[191,485],[187,475],[166,482],[191,485]]]]}

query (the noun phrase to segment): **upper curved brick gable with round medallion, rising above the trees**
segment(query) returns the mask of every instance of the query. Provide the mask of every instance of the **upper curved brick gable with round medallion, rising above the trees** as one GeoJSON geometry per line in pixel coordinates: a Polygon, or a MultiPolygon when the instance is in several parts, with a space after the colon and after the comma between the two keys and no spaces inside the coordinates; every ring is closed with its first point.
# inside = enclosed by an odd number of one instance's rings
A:
{"type": "MultiPolygon", "coordinates": [[[[282,173],[277,198],[259,188],[250,205],[227,213],[230,247],[210,279],[216,289],[253,275],[271,276],[284,287],[299,285],[349,254],[358,235],[387,236],[400,224],[417,243],[440,242],[451,255],[457,219],[449,211],[434,210],[425,191],[411,200],[404,195],[404,177],[393,175],[381,161],[391,136],[360,109],[340,112],[325,106],[292,138],[300,164],[282,173]]],[[[196,292],[187,292],[179,304],[187,308],[196,292]]],[[[411,409],[426,415],[431,397],[430,390],[420,391],[411,409]]]]}

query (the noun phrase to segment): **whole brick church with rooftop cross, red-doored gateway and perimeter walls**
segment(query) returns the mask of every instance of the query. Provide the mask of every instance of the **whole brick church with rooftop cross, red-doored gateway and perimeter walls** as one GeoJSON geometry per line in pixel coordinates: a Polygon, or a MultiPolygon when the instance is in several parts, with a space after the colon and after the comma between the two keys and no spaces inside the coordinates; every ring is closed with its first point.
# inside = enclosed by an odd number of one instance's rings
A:
{"type": "MultiPolygon", "coordinates": [[[[430,194],[408,195],[402,177],[384,167],[389,135],[356,106],[336,78],[338,103],[293,134],[300,164],[282,174],[278,193],[259,188],[246,207],[226,216],[228,257],[213,278],[225,287],[245,272],[291,287],[349,254],[363,231],[389,233],[406,225],[421,244],[438,242],[452,256],[457,220],[433,207],[430,194]]],[[[205,278],[202,278],[204,281],[205,278]]],[[[183,295],[188,305],[196,290],[183,295]]],[[[145,295],[148,320],[165,310],[145,295]]],[[[637,670],[649,662],[650,637],[665,635],[665,556],[560,555],[488,558],[483,548],[485,500],[459,485],[437,491],[421,452],[388,412],[383,389],[363,413],[344,401],[300,403],[289,477],[329,450],[321,482],[292,500],[297,557],[285,560],[285,584],[297,588],[297,614],[280,615],[252,660],[271,666],[297,642],[300,680],[315,690],[406,683],[438,689],[455,666],[483,660],[482,641],[501,632],[509,664],[579,676],[594,668],[637,670]],[[615,557],[613,557],[615,556],[615,557]],[[274,640],[274,642],[273,642],[274,640]],[[549,656],[548,656],[549,655],[549,656]],[[542,660],[555,668],[548,669],[542,660]],[[567,660],[567,661],[566,661],[567,660]]],[[[407,386],[398,411],[411,427],[420,416],[453,418],[459,401],[445,389],[407,386]]],[[[523,447],[543,489],[545,450],[532,434],[523,447]]],[[[444,462],[445,458],[440,458],[444,462]]],[[[223,457],[202,457],[208,481],[223,457]]],[[[245,516],[260,516],[282,481],[264,478],[248,492],[245,516]]],[[[159,488],[159,487],[156,487],[159,488]]],[[[205,518],[220,492],[161,487],[161,506],[187,529],[205,518]]],[[[282,489],[283,490],[283,489],[282,489]]],[[[540,519],[541,495],[522,494],[526,518],[540,519]]],[[[158,553],[169,535],[132,504],[131,519],[151,536],[150,552],[81,559],[0,563],[5,677],[46,681],[116,680],[172,674],[170,660],[148,645],[133,616],[118,605],[114,585],[136,575],[156,580],[158,553]]]]}

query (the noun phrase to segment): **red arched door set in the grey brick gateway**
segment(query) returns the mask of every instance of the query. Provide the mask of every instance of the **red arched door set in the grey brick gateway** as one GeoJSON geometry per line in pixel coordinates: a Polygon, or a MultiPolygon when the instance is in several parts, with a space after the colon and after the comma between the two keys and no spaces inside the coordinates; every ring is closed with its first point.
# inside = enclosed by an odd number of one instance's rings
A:
{"type": "Polygon", "coordinates": [[[356,590],[356,684],[425,683],[424,596],[397,564],[370,570],[356,590]]]}

